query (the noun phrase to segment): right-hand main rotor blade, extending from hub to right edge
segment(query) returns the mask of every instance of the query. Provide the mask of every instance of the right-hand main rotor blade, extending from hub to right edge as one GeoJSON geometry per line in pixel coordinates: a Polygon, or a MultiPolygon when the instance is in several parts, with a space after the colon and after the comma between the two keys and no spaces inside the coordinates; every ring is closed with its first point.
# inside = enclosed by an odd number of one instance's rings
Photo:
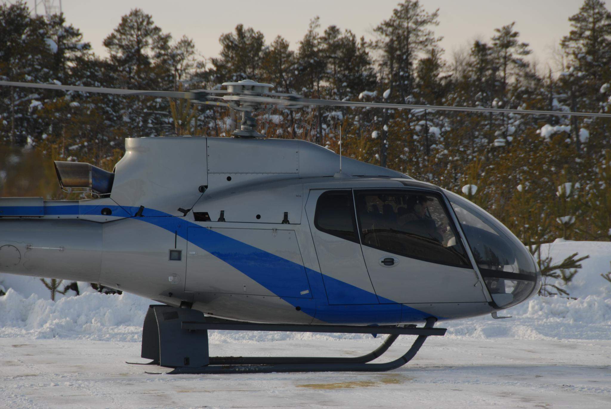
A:
{"type": "Polygon", "coordinates": [[[466,112],[493,112],[506,114],[529,114],[529,115],[567,115],[611,118],[611,114],[600,114],[598,112],[563,112],[563,111],[536,111],[533,109],[505,109],[505,108],[471,108],[467,106],[439,106],[439,105],[409,105],[409,104],[387,104],[377,102],[354,102],[354,101],[332,101],[318,100],[312,98],[298,98],[287,100],[283,105],[326,105],[326,106],[353,106],[371,108],[393,108],[393,109],[430,109],[431,111],[466,111],[466,112]]]}

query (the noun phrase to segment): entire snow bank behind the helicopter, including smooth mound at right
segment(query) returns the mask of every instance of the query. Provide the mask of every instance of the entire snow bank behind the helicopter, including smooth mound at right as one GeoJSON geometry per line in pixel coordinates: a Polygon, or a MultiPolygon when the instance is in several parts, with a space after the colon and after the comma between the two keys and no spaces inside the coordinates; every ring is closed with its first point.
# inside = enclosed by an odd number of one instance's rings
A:
{"type": "MultiPolygon", "coordinates": [[[[611,284],[600,276],[611,270],[611,242],[565,240],[541,246],[541,255],[551,256],[554,262],[574,252],[590,258],[565,287],[571,298],[535,297],[500,312],[513,316],[507,320],[486,315],[442,322],[448,328],[447,337],[611,340],[611,284]]],[[[154,303],[127,293],[104,295],[93,290],[51,301],[37,278],[0,275],[0,281],[7,289],[0,297],[0,337],[140,342],[144,315],[154,303]]],[[[370,338],[367,334],[258,331],[209,331],[209,336],[213,344],[370,338]]]]}

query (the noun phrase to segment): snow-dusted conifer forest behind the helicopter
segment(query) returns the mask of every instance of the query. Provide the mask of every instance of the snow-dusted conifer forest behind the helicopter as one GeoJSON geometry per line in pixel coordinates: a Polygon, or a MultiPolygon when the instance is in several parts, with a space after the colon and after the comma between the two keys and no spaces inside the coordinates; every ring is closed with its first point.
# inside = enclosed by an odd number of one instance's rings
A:
{"type": "MultiPolygon", "coordinates": [[[[220,34],[217,57],[201,56],[134,9],[97,56],[64,15],[35,16],[23,2],[0,6],[0,79],[141,90],[213,89],[254,79],[276,92],[334,100],[611,112],[611,12],[576,4],[555,61],[528,62],[519,21],[470,48],[445,53],[438,10],[405,0],[375,25],[373,39],[318,18],[290,45],[242,24],[220,34]]],[[[315,142],[462,193],[526,245],[611,236],[611,120],[434,110],[275,108],[259,112],[268,138],[315,142]]],[[[57,184],[53,160],[112,171],[123,139],[230,136],[224,108],[151,97],[0,87],[0,196],[77,199],[57,184]]]]}

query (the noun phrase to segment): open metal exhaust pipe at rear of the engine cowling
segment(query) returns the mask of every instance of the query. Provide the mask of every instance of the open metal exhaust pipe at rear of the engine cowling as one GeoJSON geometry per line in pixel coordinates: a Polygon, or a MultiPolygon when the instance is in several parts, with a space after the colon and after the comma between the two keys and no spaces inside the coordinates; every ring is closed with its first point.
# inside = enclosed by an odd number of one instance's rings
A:
{"type": "Polygon", "coordinates": [[[112,190],[114,173],[82,162],[54,161],[57,179],[62,189],[72,191],[84,189],[97,194],[108,194],[112,190]]]}

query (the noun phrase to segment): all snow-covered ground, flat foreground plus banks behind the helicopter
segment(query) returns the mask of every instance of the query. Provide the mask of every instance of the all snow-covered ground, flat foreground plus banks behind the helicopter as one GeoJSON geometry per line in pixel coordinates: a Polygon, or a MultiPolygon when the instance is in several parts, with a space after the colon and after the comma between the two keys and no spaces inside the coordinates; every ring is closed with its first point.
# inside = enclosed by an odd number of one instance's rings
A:
{"type": "MultiPolygon", "coordinates": [[[[140,356],[150,300],[102,295],[50,301],[38,279],[0,275],[0,408],[611,407],[611,243],[545,246],[554,260],[590,255],[566,287],[499,315],[444,322],[406,366],[383,373],[149,375],[140,356]]],[[[84,286],[81,286],[84,287],[84,286]]],[[[411,339],[395,342],[403,354],[411,339]]],[[[368,335],[210,331],[213,355],[354,356],[368,335]]]]}

